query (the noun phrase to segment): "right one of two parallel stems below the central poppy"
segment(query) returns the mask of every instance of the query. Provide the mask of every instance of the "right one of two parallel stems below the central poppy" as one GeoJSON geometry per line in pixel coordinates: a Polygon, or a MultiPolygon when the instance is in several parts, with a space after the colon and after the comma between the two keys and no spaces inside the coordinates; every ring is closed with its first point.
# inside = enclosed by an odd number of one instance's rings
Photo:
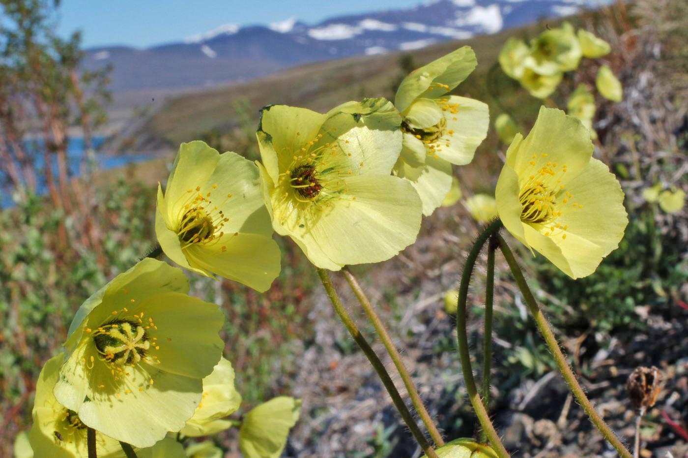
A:
{"type": "Polygon", "coordinates": [[[418,412],[418,415],[420,415],[420,419],[422,419],[423,424],[430,433],[433,441],[435,441],[435,445],[438,447],[443,446],[444,440],[442,439],[442,435],[440,434],[440,431],[437,429],[437,426],[435,426],[435,423],[433,422],[432,418],[430,417],[430,414],[425,408],[422,399],[420,399],[420,395],[418,395],[416,385],[413,384],[413,379],[411,379],[409,370],[406,368],[406,365],[401,359],[401,355],[399,354],[399,351],[396,349],[396,346],[394,346],[394,342],[391,341],[391,337],[389,336],[387,329],[385,329],[385,325],[383,324],[382,320],[380,320],[378,314],[375,312],[374,307],[370,304],[370,301],[365,295],[365,292],[363,292],[361,285],[358,284],[358,281],[356,280],[356,277],[354,277],[354,274],[346,268],[343,269],[343,272],[347,282],[349,282],[349,286],[354,291],[356,298],[358,298],[358,302],[361,302],[361,306],[363,307],[363,311],[365,311],[368,320],[370,320],[370,322],[373,324],[373,326],[375,327],[375,331],[380,336],[380,340],[382,340],[383,344],[385,344],[385,348],[387,348],[387,354],[394,362],[396,370],[399,371],[399,375],[401,375],[401,379],[404,381],[406,390],[409,392],[411,404],[413,404],[413,407],[416,408],[416,412],[418,412]]]}

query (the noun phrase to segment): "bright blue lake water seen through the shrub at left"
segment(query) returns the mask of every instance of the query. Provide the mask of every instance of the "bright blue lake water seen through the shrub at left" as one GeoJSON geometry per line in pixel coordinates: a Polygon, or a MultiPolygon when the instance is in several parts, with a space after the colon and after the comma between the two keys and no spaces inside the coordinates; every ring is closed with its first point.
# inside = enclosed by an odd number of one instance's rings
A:
{"type": "MultiPolygon", "coordinates": [[[[105,156],[100,154],[98,152],[98,148],[103,145],[105,139],[105,136],[93,137],[92,145],[96,152],[94,152],[92,156],[92,169],[114,169],[116,167],[122,167],[130,163],[136,163],[151,158],[151,156],[143,154],[125,154],[118,156],[105,156]]],[[[26,140],[24,145],[28,152],[40,152],[42,151],[43,140],[26,140]]],[[[79,176],[84,154],[85,147],[83,138],[70,137],[67,142],[67,164],[72,177],[79,176]]],[[[37,170],[36,178],[39,181],[37,192],[39,195],[45,195],[47,194],[47,185],[45,183],[45,161],[43,160],[42,152],[35,158],[34,167],[37,170]]],[[[55,164],[54,160],[52,169],[54,176],[57,176],[57,165],[55,164]]],[[[4,175],[3,171],[0,170],[0,185],[3,185],[4,183],[6,183],[6,176],[4,175]]],[[[0,208],[12,207],[12,205],[14,205],[12,196],[6,192],[7,189],[7,187],[0,187],[0,208]]]]}

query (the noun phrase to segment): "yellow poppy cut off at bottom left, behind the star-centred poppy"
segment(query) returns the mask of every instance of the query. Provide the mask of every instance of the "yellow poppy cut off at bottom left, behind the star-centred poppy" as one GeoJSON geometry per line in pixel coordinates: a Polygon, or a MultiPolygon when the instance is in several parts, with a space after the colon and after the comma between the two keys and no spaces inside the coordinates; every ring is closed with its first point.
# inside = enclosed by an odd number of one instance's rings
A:
{"type": "MultiPolygon", "coordinates": [[[[86,458],[88,456],[86,426],[78,414],[60,404],[53,394],[53,388],[60,375],[64,360],[60,353],[48,360],[36,382],[36,397],[32,411],[34,424],[30,430],[28,444],[15,458],[86,458]],[[30,453],[30,454],[29,454],[30,453]]],[[[165,438],[149,448],[135,449],[140,458],[184,458],[184,448],[174,439],[165,438]],[[176,445],[175,445],[176,444],[176,445]]],[[[119,441],[96,430],[96,452],[102,458],[125,458],[119,441]]]]}

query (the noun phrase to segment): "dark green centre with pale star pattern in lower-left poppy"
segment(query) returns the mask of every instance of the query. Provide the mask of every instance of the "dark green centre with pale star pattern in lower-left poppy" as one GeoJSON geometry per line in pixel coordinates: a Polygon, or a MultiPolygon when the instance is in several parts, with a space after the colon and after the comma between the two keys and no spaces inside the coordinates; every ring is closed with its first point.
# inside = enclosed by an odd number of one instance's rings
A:
{"type": "Polygon", "coordinates": [[[151,342],[142,324],[116,320],[94,332],[96,350],[115,366],[133,366],[146,356],[151,342]]]}

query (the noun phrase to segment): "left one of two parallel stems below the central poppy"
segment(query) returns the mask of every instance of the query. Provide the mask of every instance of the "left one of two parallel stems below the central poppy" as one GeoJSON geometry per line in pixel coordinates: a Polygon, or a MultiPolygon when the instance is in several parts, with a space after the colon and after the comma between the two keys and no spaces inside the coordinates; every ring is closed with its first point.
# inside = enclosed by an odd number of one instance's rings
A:
{"type": "Polygon", "coordinates": [[[368,361],[378,373],[378,377],[380,377],[383,385],[385,385],[385,388],[387,388],[387,393],[389,393],[389,397],[391,397],[392,402],[394,402],[396,410],[399,411],[399,414],[401,415],[402,419],[404,419],[406,426],[409,428],[409,430],[411,430],[411,434],[413,434],[416,442],[418,442],[418,445],[420,448],[422,448],[423,452],[428,458],[438,458],[427,439],[425,439],[422,431],[420,428],[418,428],[416,421],[413,420],[413,416],[409,412],[406,404],[404,404],[403,399],[401,399],[401,395],[397,391],[396,386],[394,386],[394,382],[392,382],[391,377],[389,377],[387,369],[385,369],[385,365],[382,361],[380,361],[380,358],[378,358],[378,355],[376,355],[373,348],[370,346],[370,344],[368,344],[367,340],[365,340],[365,337],[361,335],[361,331],[358,331],[356,323],[354,323],[354,320],[352,320],[351,316],[344,308],[341,300],[339,300],[337,292],[334,289],[334,285],[332,284],[332,280],[330,280],[330,274],[327,273],[325,269],[316,270],[318,271],[320,281],[323,283],[323,287],[325,287],[327,297],[330,298],[330,302],[332,302],[334,311],[336,311],[337,315],[339,315],[339,318],[344,323],[344,326],[346,326],[347,331],[349,331],[356,344],[358,344],[358,347],[363,350],[363,353],[365,353],[368,361]]]}

